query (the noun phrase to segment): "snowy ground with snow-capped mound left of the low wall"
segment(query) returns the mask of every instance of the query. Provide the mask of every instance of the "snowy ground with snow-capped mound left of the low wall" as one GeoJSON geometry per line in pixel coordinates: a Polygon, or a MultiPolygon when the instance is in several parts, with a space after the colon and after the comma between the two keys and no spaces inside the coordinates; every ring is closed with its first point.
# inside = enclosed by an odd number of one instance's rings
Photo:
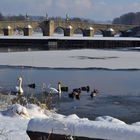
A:
{"type": "Polygon", "coordinates": [[[26,134],[27,125],[31,118],[37,117],[47,118],[47,115],[40,107],[32,104],[27,107],[15,104],[1,111],[0,140],[30,140],[26,134]]]}

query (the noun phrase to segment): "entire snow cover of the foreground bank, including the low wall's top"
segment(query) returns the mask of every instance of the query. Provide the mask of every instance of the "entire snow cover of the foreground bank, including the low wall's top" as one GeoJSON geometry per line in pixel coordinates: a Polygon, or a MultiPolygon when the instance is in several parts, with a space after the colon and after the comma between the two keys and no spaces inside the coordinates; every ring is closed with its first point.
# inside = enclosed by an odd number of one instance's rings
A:
{"type": "Polygon", "coordinates": [[[110,116],[90,121],[75,114],[64,116],[43,110],[33,104],[26,107],[15,104],[0,112],[0,140],[29,140],[26,130],[50,133],[52,129],[58,134],[111,140],[118,140],[118,137],[119,140],[139,140],[139,124],[137,122],[128,125],[110,116]]]}

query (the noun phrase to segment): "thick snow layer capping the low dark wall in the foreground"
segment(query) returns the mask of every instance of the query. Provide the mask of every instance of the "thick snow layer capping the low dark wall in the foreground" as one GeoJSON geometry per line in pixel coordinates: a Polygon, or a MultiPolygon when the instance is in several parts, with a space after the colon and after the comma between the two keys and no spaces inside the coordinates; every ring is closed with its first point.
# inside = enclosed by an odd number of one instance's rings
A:
{"type": "Polygon", "coordinates": [[[118,138],[119,140],[139,140],[140,137],[140,126],[127,125],[109,116],[95,121],[80,119],[76,115],[44,120],[32,119],[27,130],[47,134],[53,130],[54,134],[108,140],[118,140],[118,138]]]}

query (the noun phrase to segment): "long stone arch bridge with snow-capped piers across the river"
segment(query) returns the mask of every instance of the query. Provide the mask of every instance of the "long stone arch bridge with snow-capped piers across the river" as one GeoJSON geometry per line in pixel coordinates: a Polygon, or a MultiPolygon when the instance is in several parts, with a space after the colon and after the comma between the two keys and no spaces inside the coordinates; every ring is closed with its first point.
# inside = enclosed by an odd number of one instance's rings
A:
{"type": "Polygon", "coordinates": [[[103,36],[114,36],[137,27],[137,25],[95,24],[70,20],[0,21],[0,33],[7,26],[13,30],[24,30],[27,25],[31,25],[33,31],[41,31],[43,36],[52,36],[57,29],[62,29],[64,36],[73,36],[77,30],[80,30],[83,36],[94,36],[96,33],[103,36]]]}

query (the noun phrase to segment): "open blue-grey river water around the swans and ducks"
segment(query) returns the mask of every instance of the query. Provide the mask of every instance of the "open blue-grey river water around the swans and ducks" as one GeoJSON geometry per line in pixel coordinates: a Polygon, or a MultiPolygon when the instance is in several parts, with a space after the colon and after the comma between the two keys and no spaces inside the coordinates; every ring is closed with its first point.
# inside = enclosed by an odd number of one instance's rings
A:
{"type": "Polygon", "coordinates": [[[77,114],[79,117],[94,119],[109,115],[127,123],[140,121],[140,70],[97,70],[97,69],[37,69],[37,68],[0,68],[0,87],[11,90],[17,85],[17,77],[23,77],[25,93],[40,94],[42,84],[51,84],[57,88],[57,82],[73,88],[89,85],[99,94],[91,99],[90,93],[82,92],[80,100],[68,98],[63,93],[62,99],[54,102],[59,113],[77,114]],[[35,82],[37,88],[29,90],[27,84],[35,82]]]}

